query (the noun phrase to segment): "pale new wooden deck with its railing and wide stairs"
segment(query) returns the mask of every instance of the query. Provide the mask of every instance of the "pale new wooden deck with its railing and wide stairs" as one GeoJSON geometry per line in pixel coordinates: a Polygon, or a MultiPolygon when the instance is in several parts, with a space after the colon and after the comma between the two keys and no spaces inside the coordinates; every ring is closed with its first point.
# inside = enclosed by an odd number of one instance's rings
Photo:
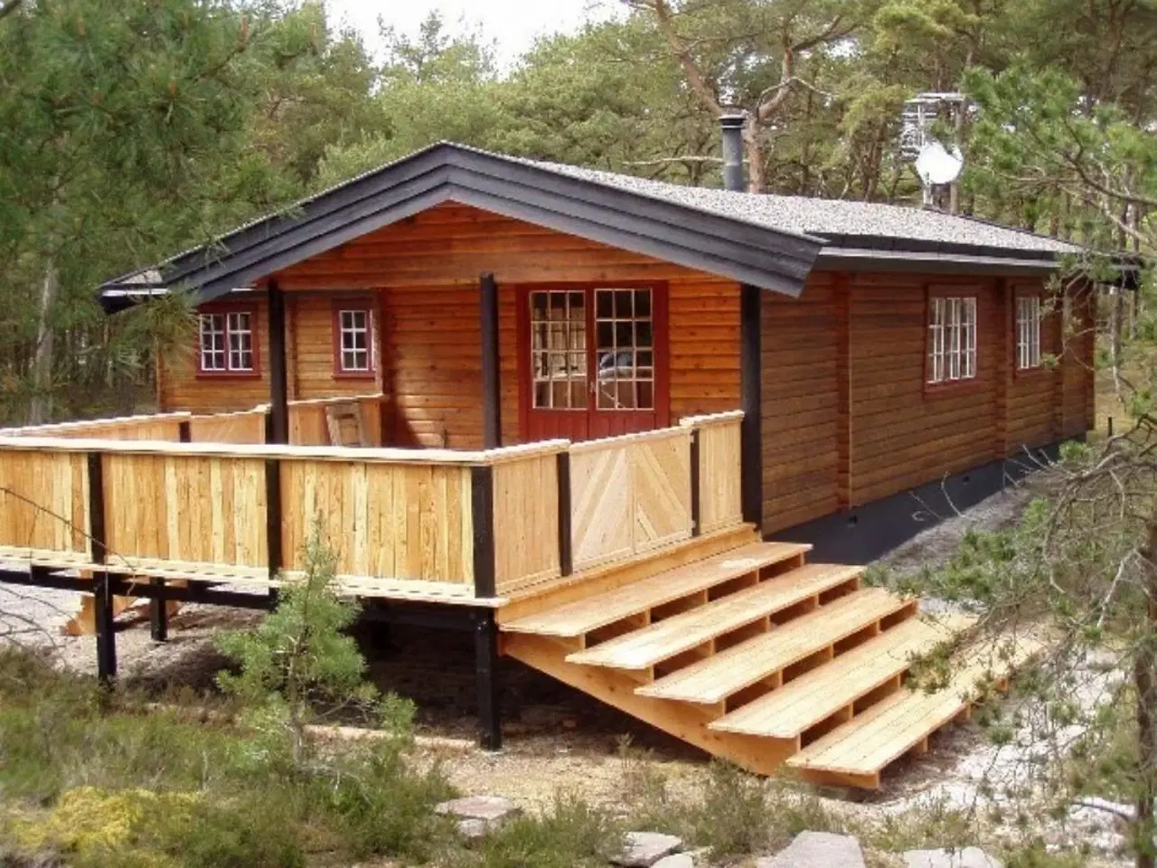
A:
{"type": "MultiPolygon", "coordinates": [[[[324,436],[324,406],[299,407],[297,436],[324,436]]],[[[860,567],[761,540],[742,521],[740,413],[481,451],[271,446],[264,413],[5,432],[0,559],[34,580],[79,573],[51,581],[97,595],[103,581],[100,659],[115,645],[110,587],[182,586],[154,604],[277,588],[301,576],[317,532],[341,593],[485,612],[492,649],[676,737],[854,787],[879,786],[967,714],[978,682],[1038,649],[974,655],[945,690],[909,689],[913,659],[970,621],[919,617],[915,601],[861,587],[860,567]],[[206,432],[243,442],[197,442],[206,432]]]]}

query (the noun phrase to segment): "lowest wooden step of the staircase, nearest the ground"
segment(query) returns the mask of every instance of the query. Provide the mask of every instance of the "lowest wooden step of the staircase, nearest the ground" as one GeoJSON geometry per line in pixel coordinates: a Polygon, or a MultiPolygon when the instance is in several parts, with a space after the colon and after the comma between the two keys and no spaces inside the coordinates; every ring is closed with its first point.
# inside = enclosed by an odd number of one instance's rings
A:
{"type": "Polygon", "coordinates": [[[885,766],[914,748],[927,746],[929,735],[968,711],[979,683],[1007,678],[1041,647],[1037,639],[1025,638],[1007,655],[974,654],[943,690],[928,693],[904,687],[816,740],[787,764],[817,782],[878,787],[885,766]]]}

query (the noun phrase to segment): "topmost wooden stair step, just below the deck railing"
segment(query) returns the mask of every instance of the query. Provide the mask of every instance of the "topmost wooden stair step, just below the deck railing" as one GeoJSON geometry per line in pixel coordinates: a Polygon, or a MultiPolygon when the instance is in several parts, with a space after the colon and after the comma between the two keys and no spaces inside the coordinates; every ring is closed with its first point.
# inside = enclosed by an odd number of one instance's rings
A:
{"type": "Polygon", "coordinates": [[[502,630],[508,633],[580,637],[761,567],[799,557],[810,549],[810,545],[797,543],[750,543],[650,579],[504,623],[502,630]]]}

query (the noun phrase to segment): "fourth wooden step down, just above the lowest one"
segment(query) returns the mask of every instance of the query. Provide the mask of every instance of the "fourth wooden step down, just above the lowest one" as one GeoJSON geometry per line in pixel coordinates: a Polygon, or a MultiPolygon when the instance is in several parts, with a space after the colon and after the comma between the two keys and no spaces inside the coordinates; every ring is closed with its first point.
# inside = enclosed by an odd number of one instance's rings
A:
{"type": "Polygon", "coordinates": [[[725,733],[796,738],[855,700],[897,678],[913,656],[926,654],[952,632],[911,619],[841,654],[779,690],[737,708],[710,724],[725,733]]]}

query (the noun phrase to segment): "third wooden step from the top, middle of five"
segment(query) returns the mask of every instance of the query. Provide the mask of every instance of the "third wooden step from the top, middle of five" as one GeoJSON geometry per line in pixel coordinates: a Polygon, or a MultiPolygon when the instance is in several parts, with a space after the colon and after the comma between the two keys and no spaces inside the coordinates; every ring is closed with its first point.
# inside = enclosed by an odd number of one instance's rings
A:
{"type": "Polygon", "coordinates": [[[722,703],[905,609],[915,613],[915,602],[883,588],[862,588],[653,684],[642,685],[635,692],[656,699],[705,705],[722,703]]]}

